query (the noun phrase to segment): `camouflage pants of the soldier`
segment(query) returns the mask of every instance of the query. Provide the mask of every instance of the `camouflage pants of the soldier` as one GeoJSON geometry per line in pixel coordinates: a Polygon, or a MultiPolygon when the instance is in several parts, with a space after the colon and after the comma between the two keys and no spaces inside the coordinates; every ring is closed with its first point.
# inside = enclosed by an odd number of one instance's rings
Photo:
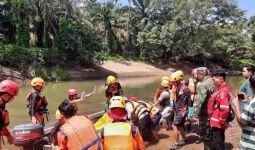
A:
{"type": "Polygon", "coordinates": [[[210,121],[207,119],[199,119],[198,124],[198,134],[200,139],[204,143],[204,150],[210,150],[212,145],[212,134],[211,134],[211,127],[210,121]]]}

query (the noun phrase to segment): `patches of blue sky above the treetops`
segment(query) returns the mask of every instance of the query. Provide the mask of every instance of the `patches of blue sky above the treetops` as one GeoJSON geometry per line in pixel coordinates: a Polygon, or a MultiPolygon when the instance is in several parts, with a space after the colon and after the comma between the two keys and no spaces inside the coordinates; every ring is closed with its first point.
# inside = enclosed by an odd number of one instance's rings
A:
{"type": "MultiPolygon", "coordinates": [[[[99,0],[101,2],[103,1],[109,1],[109,0],[99,0]]],[[[128,4],[128,0],[119,0],[119,3],[122,3],[123,5],[128,4]]],[[[252,15],[255,15],[255,0],[238,0],[238,7],[242,10],[245,10],[245,15],[247,18],[249,18],[252,15]]]]}

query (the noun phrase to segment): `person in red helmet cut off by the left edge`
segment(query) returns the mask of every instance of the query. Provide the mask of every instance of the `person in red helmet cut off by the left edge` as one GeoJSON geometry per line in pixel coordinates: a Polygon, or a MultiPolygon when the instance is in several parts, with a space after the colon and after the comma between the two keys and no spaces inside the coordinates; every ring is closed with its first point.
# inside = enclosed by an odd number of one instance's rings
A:
{"type": "Polygon", "coordinates": [[[13,143],[13,137],[7,126],[10,123],[9,113],[5,109],[6,103],[10,103],[19,93],[19,86],[11,80],[0,82],[0,149],[2,149],[2,136],[5,136],[9,144],[13,143]]]}

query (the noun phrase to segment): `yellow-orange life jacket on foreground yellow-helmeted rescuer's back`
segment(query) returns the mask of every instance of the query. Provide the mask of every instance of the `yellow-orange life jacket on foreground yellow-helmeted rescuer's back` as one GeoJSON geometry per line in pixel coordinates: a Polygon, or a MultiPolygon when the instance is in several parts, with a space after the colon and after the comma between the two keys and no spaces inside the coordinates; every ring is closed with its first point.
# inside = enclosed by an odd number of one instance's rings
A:
{"type": "Polygon", "coordinates": [[[127,122],[107,123],[102,130],[104,150],[135,150],[136,127],[127,122]]]}

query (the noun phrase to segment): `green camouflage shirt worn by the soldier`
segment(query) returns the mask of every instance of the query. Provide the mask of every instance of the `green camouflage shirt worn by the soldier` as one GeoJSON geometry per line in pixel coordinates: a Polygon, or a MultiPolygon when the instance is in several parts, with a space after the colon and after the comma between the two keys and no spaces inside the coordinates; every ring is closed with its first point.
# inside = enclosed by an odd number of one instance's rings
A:
{"type": "Polygon", "coordinates": [[[213,79],[210,76],[206,76],[202,81],[199,82],[197,87],[197,93],[194,98],[193,114],[192,116],[200,119],[208,119],[207,103],[216,87],[213,79]]]}

